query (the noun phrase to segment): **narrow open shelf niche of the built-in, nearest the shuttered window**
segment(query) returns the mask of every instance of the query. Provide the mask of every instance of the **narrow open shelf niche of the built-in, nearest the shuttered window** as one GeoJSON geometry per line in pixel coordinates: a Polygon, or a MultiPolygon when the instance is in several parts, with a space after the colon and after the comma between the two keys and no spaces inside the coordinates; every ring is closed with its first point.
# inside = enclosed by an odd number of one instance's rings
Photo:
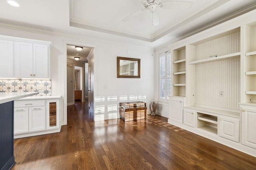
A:
{"type": "Polygon", "coordinates": [[[172,51],[172,96],[186,96],[186,47],[172,51]]]}

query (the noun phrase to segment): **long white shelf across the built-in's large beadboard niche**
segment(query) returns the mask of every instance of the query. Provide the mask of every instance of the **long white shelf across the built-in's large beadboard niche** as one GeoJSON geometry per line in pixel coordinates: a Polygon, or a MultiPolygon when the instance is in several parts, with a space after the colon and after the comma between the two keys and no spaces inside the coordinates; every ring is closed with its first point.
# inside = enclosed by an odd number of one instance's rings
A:
{"type": "Polygon", "coordinates": [[[215,61],[222,61],[222,60],[227,60],[227,59],[234,59],[240,57],[240,52],[238,53],[232,53],[228,55],[222,55],[222,56],[217,56],[217,57],[211,57],[208,59],[203,59],[203,60],[198,60],[198,61],[191,61],[188,64],[203,64],[203,63],[210,63],[210,62],[215,62],[215,61]]]}

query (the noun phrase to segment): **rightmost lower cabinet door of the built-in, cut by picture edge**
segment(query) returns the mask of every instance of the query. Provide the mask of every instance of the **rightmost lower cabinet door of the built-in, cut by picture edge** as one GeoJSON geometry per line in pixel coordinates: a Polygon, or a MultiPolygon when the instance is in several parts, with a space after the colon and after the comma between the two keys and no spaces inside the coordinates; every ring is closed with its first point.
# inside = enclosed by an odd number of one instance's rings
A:
{"type": "Polygon", "coordinates": [[[256,109],[242,108],[242,144],[256,149],[256,109]]]}

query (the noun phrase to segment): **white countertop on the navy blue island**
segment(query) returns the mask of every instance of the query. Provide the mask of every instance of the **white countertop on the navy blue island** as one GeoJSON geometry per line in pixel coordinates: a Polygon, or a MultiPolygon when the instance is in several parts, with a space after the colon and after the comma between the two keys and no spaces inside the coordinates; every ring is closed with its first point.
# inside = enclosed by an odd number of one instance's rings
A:
{"type": "Polygon", "coordinates": [[[36,94],[39,94],[39,92],[10,92],[10,93],[1,92],[0,93],[0,104],[10,102],[13,100],[18,100],[18,99],[25,98],[28,96],[33,96],[36,94]]]}

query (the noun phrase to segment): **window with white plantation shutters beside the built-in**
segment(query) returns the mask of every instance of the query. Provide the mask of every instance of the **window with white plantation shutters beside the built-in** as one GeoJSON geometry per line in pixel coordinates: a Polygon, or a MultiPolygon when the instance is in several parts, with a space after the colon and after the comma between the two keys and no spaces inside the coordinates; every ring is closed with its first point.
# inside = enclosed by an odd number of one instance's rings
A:
{"type": "Polygon", "coordinates": [[[159,55],[159,101],[168,102],[172,95],[172,55],[163,53],[159,55]]]}

